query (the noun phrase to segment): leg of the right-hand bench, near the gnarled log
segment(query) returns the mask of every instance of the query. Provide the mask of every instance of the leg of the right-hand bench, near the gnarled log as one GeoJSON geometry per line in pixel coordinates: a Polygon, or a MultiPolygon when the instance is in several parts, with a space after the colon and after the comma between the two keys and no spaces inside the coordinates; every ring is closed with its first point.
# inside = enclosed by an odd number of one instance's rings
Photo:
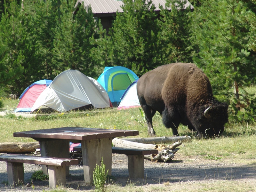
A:
{"type": "Polygon", "coordinates": [[[144,177],[144,155],[127,155],[130,178],[144,177]]]}

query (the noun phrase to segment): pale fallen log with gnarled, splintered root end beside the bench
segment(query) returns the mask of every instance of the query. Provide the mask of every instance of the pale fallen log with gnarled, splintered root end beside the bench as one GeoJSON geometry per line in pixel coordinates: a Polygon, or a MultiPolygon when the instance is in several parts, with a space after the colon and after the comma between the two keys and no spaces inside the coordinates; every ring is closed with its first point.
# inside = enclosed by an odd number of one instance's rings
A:
{"type": "Polygon", "coordinates": [[[121,148],[138,148],[138,149],[157,149],[158,154],[157,155],[145,155],[144,159],[148,159],[151,161],[158,161],[158,162],[167,162],[171,161],[174,157],[174,153],[176,153],[180,146],[182,144],[181,141],[177,141],[173,143],[172,145],[154,145],[154,144],[145,144],[145,143],[137,143],[133,141],[127,141],[127,140],[121,140],[114,138],[112,140],[112,143],[115,147],[121,147],[121,148]]]}

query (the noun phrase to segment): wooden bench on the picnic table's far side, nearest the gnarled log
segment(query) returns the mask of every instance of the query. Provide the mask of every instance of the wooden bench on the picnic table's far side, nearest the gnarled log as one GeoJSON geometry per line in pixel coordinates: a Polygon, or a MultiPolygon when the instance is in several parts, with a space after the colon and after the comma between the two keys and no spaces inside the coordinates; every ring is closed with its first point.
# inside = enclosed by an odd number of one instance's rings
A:
{"type": "MultiPolygon", "coordinates": [[[[81,147],[73,148],[74,151],[81,151],[81,147]]],[[[135,149],[112,147],[112,153],[125,154],[128,157],[128,172],[130,178],[144,177],[144,155],[158,154],[156,149],[135,149]]]]}

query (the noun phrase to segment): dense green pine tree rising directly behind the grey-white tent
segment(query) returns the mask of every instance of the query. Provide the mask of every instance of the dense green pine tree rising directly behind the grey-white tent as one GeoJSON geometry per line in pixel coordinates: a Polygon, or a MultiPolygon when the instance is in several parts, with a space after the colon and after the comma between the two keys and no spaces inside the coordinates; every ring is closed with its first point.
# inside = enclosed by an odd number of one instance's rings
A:
{"type": "Polygon", "coordinates": [[[98,38],[97,22],[91,7],[81,6],[76,14],[75,1],[62,0],[60,5],[60,22],[55,30],[54,54],[62,63],[62,70],[75,69],[95,76],[97,66],[92,62],[92,38],[98,38]]]}

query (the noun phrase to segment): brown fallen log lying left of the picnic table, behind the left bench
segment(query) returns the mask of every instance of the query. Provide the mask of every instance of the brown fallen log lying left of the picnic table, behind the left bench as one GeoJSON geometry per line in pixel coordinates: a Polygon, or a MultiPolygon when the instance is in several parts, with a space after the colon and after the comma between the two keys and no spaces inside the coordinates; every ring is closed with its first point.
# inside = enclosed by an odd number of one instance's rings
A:
{"type": "Polygon", "coordinates": [[[39,142],[22,143],[22,142],[6,142],[0,143],[0,153],[30,153],[39,149],[39,142]]]}

